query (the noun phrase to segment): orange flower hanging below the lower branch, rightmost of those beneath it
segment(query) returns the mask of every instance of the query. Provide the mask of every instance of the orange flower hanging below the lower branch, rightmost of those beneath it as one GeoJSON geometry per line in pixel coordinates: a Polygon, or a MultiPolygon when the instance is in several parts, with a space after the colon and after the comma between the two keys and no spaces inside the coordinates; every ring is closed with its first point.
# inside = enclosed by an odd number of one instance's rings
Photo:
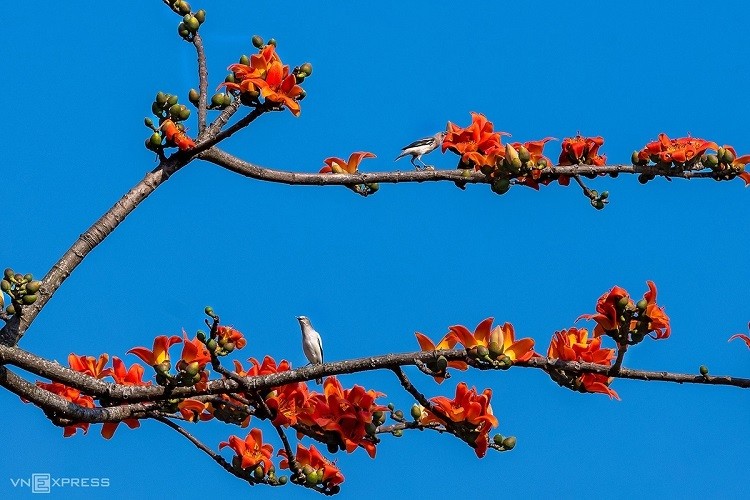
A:
{"type": "MultiPolygon", "coordinates": [[[[485,389],[482,394],[478,394],[476,388],[469,389],[464,382],[461,382],[456,387],[456,397],[452,400],[445,396],[437,396],[430,401],[435,405],[436,410],[451,421],[471,427],[473,438],[471,443],[473,443],[474,452],[481,458],[487,453],[489,447],[490,429],[498,426],[497,418],[492,414],[490,399],[492,399],[491,389],[485,389]]],[[[440,417],[429,410],[422,412],[420,423],[445,424],[440,417]]]]}

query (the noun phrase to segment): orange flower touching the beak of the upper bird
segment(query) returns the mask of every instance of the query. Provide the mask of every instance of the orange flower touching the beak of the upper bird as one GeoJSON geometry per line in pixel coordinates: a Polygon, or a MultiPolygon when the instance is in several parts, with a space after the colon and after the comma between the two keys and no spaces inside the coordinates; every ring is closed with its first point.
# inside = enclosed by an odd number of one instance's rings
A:
{"type": "Polygon", "coordinates": [[[466,128],[448,122],[448,135],[443,140],[442,151],[449,149],[461,155],[463,163],[479,165],[486,163],[483,155],[501,151],[501,135],[510,134],[495,132],[491,121],[482,114],[472,112],[471,125],[466,128]]]}

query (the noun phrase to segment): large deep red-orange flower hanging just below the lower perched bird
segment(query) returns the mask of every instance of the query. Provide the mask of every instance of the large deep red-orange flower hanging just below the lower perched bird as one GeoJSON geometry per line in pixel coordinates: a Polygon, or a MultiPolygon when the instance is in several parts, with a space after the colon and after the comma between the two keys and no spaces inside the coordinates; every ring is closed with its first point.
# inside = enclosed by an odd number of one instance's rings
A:
{"type": "Polygon", "coordinates": [[[335,432],[347,453],[361,446],[374,458],[375,443],[368,438],[366,426],[372,422],[373,412],[386,409],[375,404],[375,399],[384,394],[366,391],[358,385],[344,390],[336,377],[326,379],[323,391],[324,394],[310,394],[304,411],[298,414],[299,421],[309,427],[335,432]]]}

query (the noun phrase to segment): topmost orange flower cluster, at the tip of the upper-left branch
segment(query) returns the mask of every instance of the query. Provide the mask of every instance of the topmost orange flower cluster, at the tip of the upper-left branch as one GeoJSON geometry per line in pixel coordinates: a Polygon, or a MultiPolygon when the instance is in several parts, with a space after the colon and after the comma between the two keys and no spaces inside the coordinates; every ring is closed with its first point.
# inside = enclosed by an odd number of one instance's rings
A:
{"type": "Polygon", "coordinates": [[[312,65],[306,63],[290,70],[281,62],[275,43],[263,44],[256,36],[253,44],[259,49],[258,53],[249,59],[243,56],[239,63],[229,66],[232,74],[220,87],[238,92],[243,104],[258,105],[262,97],[266,103],[272,102],[279,108],[286,106],[294,116],[299,116],[299,101],[305,91],[298,84],[312,74],[312,65]]]}

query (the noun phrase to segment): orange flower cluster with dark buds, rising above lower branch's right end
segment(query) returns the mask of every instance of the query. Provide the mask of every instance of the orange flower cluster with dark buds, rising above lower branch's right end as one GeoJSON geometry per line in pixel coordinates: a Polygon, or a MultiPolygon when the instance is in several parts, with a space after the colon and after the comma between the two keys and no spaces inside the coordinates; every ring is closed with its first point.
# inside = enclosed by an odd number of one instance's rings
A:
{"type": "Polygon", "coordinates": [[[596,322],[594,336],[607,335],[619,345],[633,345],[646,335],[654,339],[669,337],[669,317],[656,304],[656,285],[647,281],[648,291],[634,303],[628,292],[619,286],[602,295],[596,303],[595,314],[583,314],[579,319],[596,322]]]}

